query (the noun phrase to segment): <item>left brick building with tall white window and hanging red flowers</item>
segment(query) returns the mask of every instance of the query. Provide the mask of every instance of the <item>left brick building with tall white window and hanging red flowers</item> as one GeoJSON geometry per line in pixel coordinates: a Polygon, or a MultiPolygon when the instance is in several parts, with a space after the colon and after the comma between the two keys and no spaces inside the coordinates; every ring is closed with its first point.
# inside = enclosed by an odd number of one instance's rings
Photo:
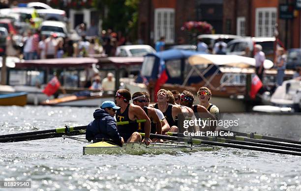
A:
{"type": "Polygon", "coordinates": [[[216,33],[222,32],[223,0],[141,0],[139,4],[138,38],[153,44],[165,36],[166,44],[187,43],[188,33],[181,30],[187,21],[207,21],[216,33]]]}

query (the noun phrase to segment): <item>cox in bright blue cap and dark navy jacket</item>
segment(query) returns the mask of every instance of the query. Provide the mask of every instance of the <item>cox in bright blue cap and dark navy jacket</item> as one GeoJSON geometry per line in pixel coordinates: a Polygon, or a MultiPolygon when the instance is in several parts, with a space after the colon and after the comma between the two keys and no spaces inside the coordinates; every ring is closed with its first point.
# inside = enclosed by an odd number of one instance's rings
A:
{"type": "Polygon", "coordinates": [[[98,142],[103,139],[112,139],[117,145],[123,145],[123,137],[117,130],[114,115],[119,110],[112,101],[104,101],[100,109],[96,109],[93,113],[94,120],[87,126],[86,139],[90,142],[98,142]]]}

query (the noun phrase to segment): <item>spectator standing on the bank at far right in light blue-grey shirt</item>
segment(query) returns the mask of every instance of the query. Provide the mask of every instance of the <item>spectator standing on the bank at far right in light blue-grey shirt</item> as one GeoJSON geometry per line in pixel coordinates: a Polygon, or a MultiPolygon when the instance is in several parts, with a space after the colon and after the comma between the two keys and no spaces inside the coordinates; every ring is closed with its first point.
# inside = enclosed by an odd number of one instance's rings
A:
{"type": "Polygon", "coordinates": [[[274,63],[276,64],[277,68],[277,85],[282,85],[286,67],[286,55],[282,47],[277,49],[277,56],[274,60],[274,63]]]}

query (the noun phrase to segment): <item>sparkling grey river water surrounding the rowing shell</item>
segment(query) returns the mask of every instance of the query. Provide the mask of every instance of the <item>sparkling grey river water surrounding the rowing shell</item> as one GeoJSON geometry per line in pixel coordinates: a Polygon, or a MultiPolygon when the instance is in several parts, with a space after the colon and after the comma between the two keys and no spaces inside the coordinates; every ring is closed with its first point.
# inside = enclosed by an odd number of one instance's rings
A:
{"type": "MultiPolygon", "coordinates": [[[[87,125],[93,111],[0,107],[0,135],[54,129],[64,124],[87,125]]],[[[240,119],[240,131],[297,140],[301,135],[300,115],[235,115],[240,119]]],[[[83,156],[86,144],[63,138],[0,143],[0,180],[31,181],[30,189],[0,190],[301,190],[301,157],[231,148],[176,155],[83,156]]]]}

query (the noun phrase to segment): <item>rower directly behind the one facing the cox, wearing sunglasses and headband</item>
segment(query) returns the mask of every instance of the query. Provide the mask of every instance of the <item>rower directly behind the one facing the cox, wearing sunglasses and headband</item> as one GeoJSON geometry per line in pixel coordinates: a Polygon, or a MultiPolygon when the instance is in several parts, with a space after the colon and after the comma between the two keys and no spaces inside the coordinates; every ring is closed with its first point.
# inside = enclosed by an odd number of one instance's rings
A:
{"type": "MultiPolygon", "coordinates": [[[[145,106],[146,96],[142,92],[136,92],[132,96],[133,104],[140,106],[151,119],[151,134],[162,135],[162,126],[154,108],[145,106]]],[[[138,123],[139,133],[144,133],[144,123],[138,123]]]]}

